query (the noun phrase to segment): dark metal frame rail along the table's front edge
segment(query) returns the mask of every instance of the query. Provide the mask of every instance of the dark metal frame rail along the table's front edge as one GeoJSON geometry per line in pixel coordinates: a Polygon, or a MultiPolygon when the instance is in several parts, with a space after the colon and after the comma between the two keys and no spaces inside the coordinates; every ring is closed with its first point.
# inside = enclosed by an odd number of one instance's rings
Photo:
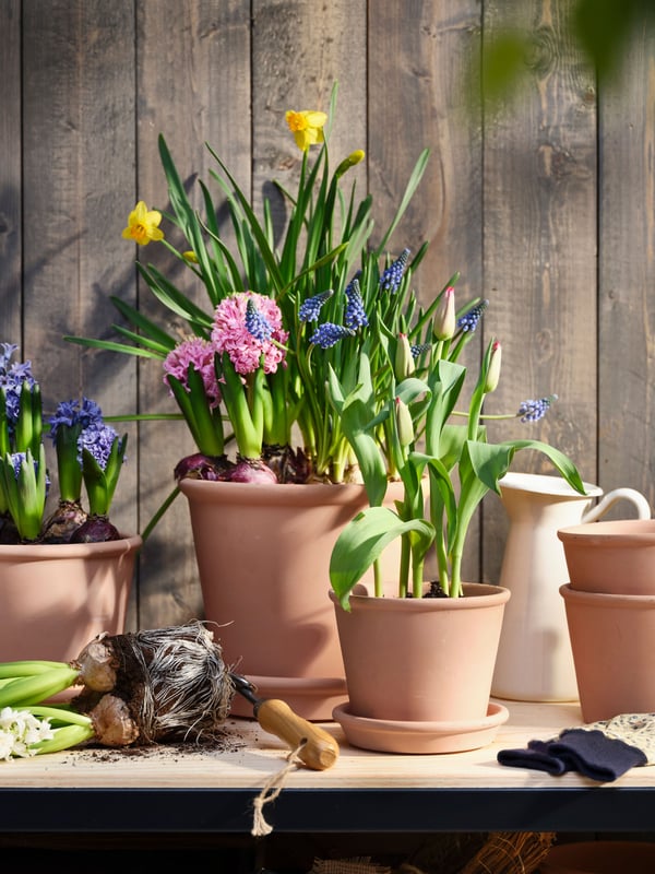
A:
{"type": "MultiPolygon", "coordinates": [[[[249,834],[247,789],[0,789],[0,832],[249,834]]],[[[284,789],[277,832],[652,831],[655,787],[284,789]],[[652,806],[653,805],[653,806],[652,806]]]]}

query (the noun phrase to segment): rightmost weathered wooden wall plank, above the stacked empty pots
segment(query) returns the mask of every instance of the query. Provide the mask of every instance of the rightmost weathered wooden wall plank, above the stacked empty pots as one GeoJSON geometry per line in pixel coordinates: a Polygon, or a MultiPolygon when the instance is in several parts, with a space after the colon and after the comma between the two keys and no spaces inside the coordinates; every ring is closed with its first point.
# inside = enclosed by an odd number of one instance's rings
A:
{"type": "MultiPolygon", "coordinates": [[[[600,92],[598,482],[655,505],[655,27],[600,92]]],[[[617,512],[618,512],[617,508],[617,512]]],[[[619,516],[624,516],[623,512],[619,516]]]]}

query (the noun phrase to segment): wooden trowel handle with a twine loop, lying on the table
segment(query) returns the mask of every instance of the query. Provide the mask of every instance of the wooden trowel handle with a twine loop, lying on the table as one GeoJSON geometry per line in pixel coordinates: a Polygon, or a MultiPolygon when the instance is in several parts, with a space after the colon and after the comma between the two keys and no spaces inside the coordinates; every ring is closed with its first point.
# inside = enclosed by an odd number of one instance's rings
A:
{"type": "Polygon", "coordinates": [[[279,737],[291,749],[296,749],[305,741],[298,758],[308,768],[324,771],[338,758],[338,744],[334,737],[319,725],[294,713],[285,701],[265,698],[255,705],[254,714],[264,731],[279,737]]]}

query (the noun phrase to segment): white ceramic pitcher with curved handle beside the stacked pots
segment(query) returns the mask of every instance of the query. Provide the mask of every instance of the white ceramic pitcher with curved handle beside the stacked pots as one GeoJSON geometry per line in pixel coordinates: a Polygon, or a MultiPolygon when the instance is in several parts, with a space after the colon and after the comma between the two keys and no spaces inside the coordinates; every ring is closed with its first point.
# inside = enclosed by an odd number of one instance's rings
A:
{"type": "MultiPolygon", "coordinates": [[[[603,495],[585,483],[580,495],[561,477],[508,473],[501,481],[502,504],[510,519],[500,586],[512,597],[505,604],[491,694],[519,701],[577,699],[567,615],[559,588],[569,582],[557,531],[594,522],[621,500],[640,519],[651,518],[645,497],[634,488],[603,495]]],[[[634,515],[634,513],[633,513],[634,515]]]]}

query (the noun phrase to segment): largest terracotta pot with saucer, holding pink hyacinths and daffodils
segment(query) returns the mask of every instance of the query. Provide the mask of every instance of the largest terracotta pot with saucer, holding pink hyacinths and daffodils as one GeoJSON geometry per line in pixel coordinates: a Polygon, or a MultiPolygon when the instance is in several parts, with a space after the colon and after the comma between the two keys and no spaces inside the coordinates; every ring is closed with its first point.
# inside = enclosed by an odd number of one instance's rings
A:
{"type": "MultiPolygon", "coordinates": [[[[330,556],[342,528],[367,506],[364,487],[182,480],[180,489],[205,618],[217,625],[226,663],[260,696],[284,698],[306,719],[331,719],[346,683],[325,597],[330,556]]],[[[233,713],[252,717],[252,706],[237,696],[233,713]]]]}

